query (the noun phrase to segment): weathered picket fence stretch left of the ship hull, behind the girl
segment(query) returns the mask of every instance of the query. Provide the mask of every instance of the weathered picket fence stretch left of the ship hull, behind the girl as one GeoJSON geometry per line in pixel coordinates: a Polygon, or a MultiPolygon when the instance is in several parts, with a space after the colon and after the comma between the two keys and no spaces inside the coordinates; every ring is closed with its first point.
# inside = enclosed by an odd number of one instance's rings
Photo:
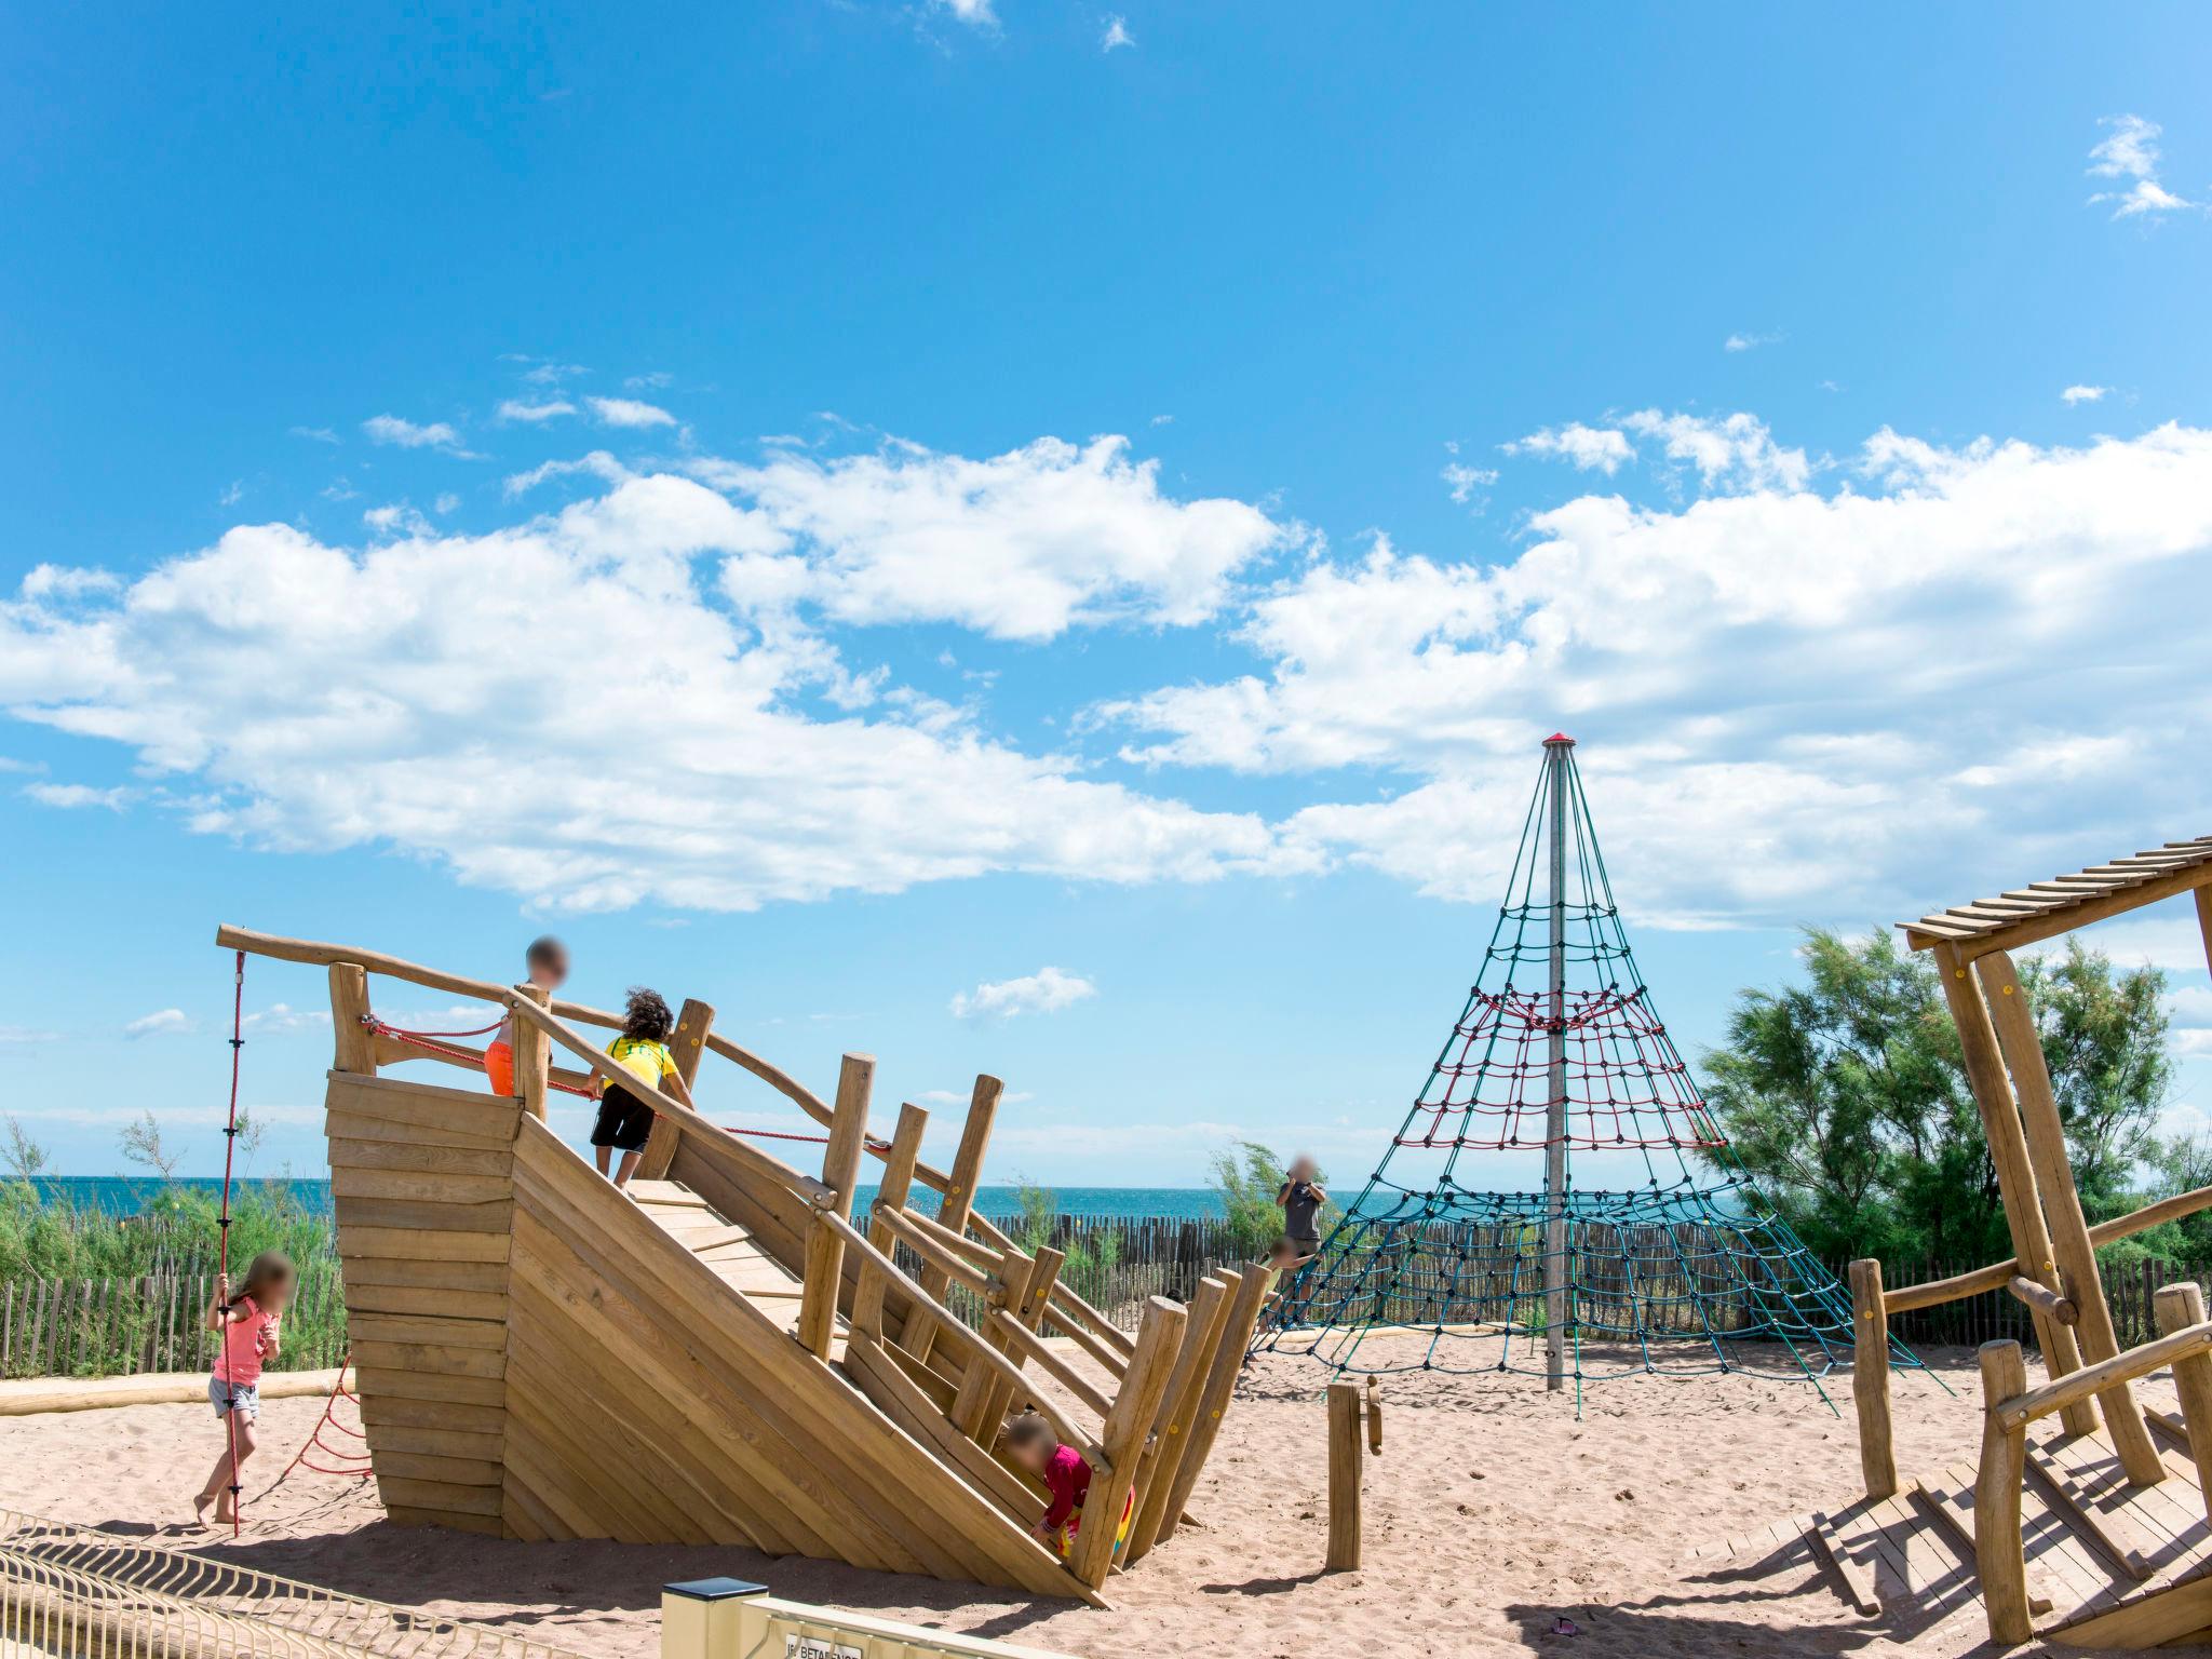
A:
{"type": "MultiPolygon", "coordinates": [[[[0,1376],[135,1376],[197,1371],[215,1358],[201,1314],[212,1272],[131,1279],[22,1279],[0,1287],[0,1376]]],[[[323,1369],[345,1356],[345,1287],[336,1259],[301,1265],[274,1371],[323,1369]]]]}

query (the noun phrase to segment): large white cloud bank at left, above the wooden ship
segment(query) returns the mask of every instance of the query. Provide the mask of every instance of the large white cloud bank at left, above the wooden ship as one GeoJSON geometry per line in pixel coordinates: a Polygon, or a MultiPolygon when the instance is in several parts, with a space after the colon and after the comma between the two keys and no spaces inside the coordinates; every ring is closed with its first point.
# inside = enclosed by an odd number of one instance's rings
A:
{"type": "MultiPolygon", "coordinates": [[[[883,467],[863,491],[902,502],[900,465],[883,467]]],[[[894,533],[876,507],[836,518],[827,473],[776,487],[852,540],[894,533]]],[[[967,502],[984,533],[940,529],[989,553],[991,533],[1015,535],[1002,520],[1079,513],[1095,491],[1133,498],[1135,520],[1161,520],[1170,540],[1190,511],[1148,473],[1088,473],[1075,509],[1064,489],[931,500],[967,502]]],[[[1093,535],[1119,524],[1108,511],[1093,535]]],[[[1057,533],[1082,571],[1077,531],[1057,533]]],[[[394,847],[549,907],[745,909],[984,872],[1139,883],[1287,867],[1254,814],[1086,779],[1077,757],[987,737],[790,617],[754,626],[719,597],[723,573],[785,540],[761,509],[672,476],[484,535],[365,551],[237,526],[122,591],[0,602],[0,708],[122,743],[148,774],[190,785],[166,796],[188,830],[268,849],[394,847]]],[[[1115,557],[1091,546],[1091,564],[1115,557]]],[[[973,580],[995,575],[987,557],[973,580]]]]}

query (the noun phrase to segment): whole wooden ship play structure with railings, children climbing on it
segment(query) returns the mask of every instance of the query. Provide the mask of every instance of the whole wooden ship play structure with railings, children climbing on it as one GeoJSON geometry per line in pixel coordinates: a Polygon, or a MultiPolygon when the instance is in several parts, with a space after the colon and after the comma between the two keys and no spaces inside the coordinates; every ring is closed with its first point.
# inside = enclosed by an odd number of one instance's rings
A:
{"type": "Polygon", "coordinates": [[[617,1015],[374,951],[234,927],[217,942],[241,971],[257,953],[330,973],[338,1254],[392,1520],[748,1544],[1095,1604],[1108,1571],[1183,1522],[1272,1272],[1214,1272],[1188,1307],[1152,1296],[1133,1336],[1117,1329],[1062,1283],[1057,1250],[1022,1250],[973,1208],[995,1077],[975,1079],[940,1172],[918,1157],[920,1108],[869,1133],[869,1057],[845,1055],[823,1102],[686,1002],[670,1042],[686,1084],[712,1093],[697,1082],[712,1055],[796,1104],[823,1130],[807,1172],[577,1031],[617,1015]],[[487,1093],[482,1053],[451,1033],[380,1020],[372,975],[502,1009],[515,1093],[487,1093]],[[476,1075],[387,1075],[403,1062],[476,1075]],[[630,1197],[546,1126],[549,1095],[593,1077],[659,1115],[630,1197]],[[869,1161],[878,1194],[856,1214],[869,1161]],[[916,1188],[940,1194],[933,1214],[916,1188]],[[1042,1489],[995,1451],[1013,1407],[1095,1471],[1066,1562],[1031,1533],[1042,1489]]]}

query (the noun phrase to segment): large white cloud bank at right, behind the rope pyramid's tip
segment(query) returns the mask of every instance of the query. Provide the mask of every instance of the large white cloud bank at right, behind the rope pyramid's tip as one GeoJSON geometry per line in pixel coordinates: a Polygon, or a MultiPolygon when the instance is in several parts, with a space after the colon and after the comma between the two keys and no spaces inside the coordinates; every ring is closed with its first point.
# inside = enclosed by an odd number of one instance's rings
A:
{"type": "Polygon", "coordinates": [[[1150,765],[1371,768],[1287,845],[1471,900],[1566,726],[1621,891],[1681,925],[1889,920],[1986,891],[1991,845],[2017,885],[2199,827],[2170,757],[2212,750],[2212,635],[2172,595],[2212,586],[2212,431],[1882,429],[1814,489],[1756,422],[1639,425],[1732,487],[1568,500],[1495,566],[1316,560],[1254,599],[1256,672],[1095,719],[1150,765]]]}

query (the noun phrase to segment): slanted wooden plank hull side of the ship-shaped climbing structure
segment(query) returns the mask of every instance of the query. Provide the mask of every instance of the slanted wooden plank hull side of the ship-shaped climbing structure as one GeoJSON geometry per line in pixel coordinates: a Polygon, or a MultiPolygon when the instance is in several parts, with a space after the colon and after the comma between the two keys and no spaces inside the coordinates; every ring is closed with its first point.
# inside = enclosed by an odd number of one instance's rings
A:
{"type": "Polygon", "coordinates": [[[1006,1513],[1029,1502],[989,1453],[916,1433],[933,1413],[911,1383],[863,1391],[792,1338],[796,1194],[679,1157],[701,1214],[664,1199],[657,1221],[515,1099],[332,1073],[327,1106],[363,1425],[396,1522],[750,1544],[1097,1599],[1006,1513]]]}

